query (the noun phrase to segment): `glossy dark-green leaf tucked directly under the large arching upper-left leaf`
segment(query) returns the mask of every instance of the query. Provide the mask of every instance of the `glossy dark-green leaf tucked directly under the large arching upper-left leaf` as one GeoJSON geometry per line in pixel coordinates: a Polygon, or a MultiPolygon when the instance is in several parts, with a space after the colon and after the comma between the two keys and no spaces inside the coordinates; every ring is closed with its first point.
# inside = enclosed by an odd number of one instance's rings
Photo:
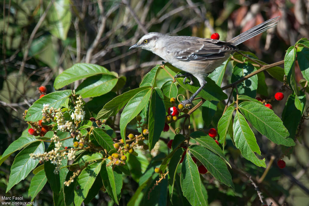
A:
{"type": "Polygon", "coordinates": [[[91,76],[76,88],[76,93],[83,98],[101,96],[110,92],[117,84],[117,81],[118,78],[113,75],[91,76]]]}

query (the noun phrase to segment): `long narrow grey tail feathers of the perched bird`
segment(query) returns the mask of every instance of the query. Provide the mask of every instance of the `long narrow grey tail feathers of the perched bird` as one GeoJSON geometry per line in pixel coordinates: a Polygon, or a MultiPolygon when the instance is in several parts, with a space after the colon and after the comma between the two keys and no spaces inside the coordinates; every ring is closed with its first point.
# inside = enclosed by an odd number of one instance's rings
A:
{"type": "Polygon", "coordinates": [[[233,39],[231,39],[228,42],[233,43],[233,45],[239,45],[240,43],[247,41],[248,39],[252,38],[253,36],[256,36],[262,32],[265,32],[266,30],[273,28],[277,25],[278,23],[278,18],[279,16],[273,18],[273,19],[269,19],[241,34],[239,34],[238,36],[235,36],[233,39]]]}

